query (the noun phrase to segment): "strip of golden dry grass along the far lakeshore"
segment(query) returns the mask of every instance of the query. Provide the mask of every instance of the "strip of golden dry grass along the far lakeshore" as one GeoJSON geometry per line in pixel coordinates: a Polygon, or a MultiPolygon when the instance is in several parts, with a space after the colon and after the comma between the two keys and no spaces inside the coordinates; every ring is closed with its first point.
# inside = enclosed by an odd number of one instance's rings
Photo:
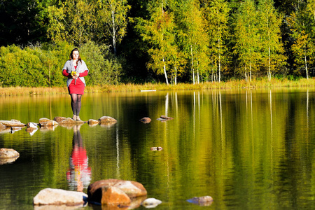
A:
{"type": "MultiPolygon", "coordinates": [[[[265,87],[312,87],[315,86],[315,79],[301,78],[300,80],[276,79],[267,80],[260,78],[246,82],[245,80],[228,80],[221,83],[200,83],[166,85],[165,83],[145,83],[142,85],[102,85],[87,86],[85,92],[137,92],[140,90],[206,90],[206,89],[230,89],[238,88],[265,88],[265,87]]],[[[17,96],[31,94],[68,94],[66,87],[0,87],[0,96],[17,96]]]]}

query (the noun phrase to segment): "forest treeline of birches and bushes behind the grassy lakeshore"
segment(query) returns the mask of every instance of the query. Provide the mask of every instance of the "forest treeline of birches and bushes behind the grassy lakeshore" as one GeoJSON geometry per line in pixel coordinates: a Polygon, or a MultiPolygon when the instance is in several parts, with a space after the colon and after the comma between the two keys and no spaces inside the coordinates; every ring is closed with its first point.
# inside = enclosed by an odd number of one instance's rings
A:
{"type": "Polygon", "coordinates": [[[0,86],[64,85],[78,47],[89,85],[314,73],[315,0],[1,0],[0,86]]]}

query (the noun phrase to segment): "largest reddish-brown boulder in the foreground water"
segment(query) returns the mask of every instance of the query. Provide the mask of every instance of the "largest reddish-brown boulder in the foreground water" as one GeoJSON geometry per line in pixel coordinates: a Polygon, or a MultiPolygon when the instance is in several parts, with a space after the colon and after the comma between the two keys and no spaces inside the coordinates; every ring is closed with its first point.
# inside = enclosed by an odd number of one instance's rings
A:
{"type": "Polygon", "coordinates": [[[137,181],[106,179],[96,181],[87,188],[89,202],[100,204],[130,204],[135,197],[146,198],[144,186],[137,181]]]}

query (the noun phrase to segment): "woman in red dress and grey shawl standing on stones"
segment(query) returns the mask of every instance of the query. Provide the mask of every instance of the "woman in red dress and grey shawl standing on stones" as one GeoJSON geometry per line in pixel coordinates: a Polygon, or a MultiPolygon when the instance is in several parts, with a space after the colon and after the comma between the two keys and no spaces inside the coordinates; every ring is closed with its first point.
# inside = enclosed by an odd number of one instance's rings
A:
{"type": "Polygon", "coordinates": [[[85,79],[89,69],[85,62],[80,58],[78,48],[74,48],[70,53],[70,59],[64,64],[62,75],[68,77],[66,86],[71,96],[71,108],[73,120],[80,121],[79,113],[81,109],[81,97],[84,94],[85,79]]]}

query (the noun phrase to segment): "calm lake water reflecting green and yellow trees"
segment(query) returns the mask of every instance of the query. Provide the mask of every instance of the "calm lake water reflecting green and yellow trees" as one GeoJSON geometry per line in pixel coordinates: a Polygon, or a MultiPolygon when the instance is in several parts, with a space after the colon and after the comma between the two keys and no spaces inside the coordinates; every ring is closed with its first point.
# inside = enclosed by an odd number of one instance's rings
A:
{"type": "MultiPolygon", "coordinates": [[[[0,97],[0,120],[55,116],[72,116],[69,95],[0,97]]],[[[0,209],[101,179],[142,183],[156,209],[315,209],[314,88],[85,94],[80,118],[102,116],[118,122],[0,132],[0,148],[20,153],[0,165],[0,209]],[[205,195],[210,206],[187,202],[205,195]]]]}

